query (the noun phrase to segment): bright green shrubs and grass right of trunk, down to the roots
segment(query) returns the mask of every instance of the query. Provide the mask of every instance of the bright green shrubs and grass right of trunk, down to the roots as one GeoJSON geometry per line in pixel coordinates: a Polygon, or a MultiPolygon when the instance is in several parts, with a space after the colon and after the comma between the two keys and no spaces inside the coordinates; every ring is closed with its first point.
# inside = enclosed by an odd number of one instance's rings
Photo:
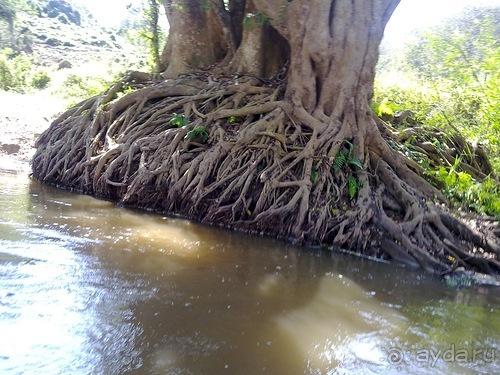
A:
{"type": "Polygon", "coordinates": [[[411,144],[397,149],[439,181],[452,203],[496,218],[500,218],[500,187],[495,180],[500,177],[499,20],[499,7],[466,10],[461,17],[422,32],[404,53],[382,56],[372,104],[375,113],[395,126],[419,128],[419,134],[460,134],[469,143],[481,144],[493,170],[484,181],[474,180],[459,163],[429,165],[411,144]],[[410,121],[392,121],[405,110],[412,113],[410,121]]]}

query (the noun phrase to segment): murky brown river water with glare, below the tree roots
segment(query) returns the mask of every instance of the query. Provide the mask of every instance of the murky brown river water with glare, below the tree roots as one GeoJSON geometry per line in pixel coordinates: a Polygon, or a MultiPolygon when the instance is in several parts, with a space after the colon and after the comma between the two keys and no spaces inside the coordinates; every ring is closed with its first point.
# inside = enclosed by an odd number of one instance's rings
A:
{"type": "Polygon", "coordinates": [[[499,308],[0,173],[1,374],[498,374],[499,308]]]}

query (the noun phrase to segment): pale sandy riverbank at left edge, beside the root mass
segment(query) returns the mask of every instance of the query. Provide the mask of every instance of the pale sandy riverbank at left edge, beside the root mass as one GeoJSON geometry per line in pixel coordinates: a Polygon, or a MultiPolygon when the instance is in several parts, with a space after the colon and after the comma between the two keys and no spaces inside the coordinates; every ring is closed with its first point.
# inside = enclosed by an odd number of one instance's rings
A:
{"type": "Polygon", "coordinates": [[[35,142],[66,107],[64,100],[0,91],[0,168],[29,170],[35,142]]]}

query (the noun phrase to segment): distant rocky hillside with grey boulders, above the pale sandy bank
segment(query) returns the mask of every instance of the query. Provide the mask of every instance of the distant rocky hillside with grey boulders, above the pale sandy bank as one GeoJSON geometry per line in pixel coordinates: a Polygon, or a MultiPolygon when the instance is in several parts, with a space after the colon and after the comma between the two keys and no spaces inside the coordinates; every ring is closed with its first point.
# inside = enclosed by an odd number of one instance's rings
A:
{"type": "Polygon", "coordinates": [[[133,45],[117,29],[100,26],[78,4],[65,0],[3,1],[0,51],[7,59],[26,56],[35,66],[43,67],[55,85],[70,73],[58,74],[62,69],[76,69],[71,73],[78,76],[109,77],[144,68],[146,50],[133,45]]]}

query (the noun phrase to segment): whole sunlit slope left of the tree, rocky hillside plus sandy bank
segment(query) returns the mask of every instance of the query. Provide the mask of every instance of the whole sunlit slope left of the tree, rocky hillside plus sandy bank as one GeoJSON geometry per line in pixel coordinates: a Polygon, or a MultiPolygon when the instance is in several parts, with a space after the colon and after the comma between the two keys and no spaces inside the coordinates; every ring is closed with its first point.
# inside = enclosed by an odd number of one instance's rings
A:
{"type": "Polygon", "coordinates": [[[77,3],[0,0],[0,84],[23,80],[4,90],[0,85],[2,168],[6,160],[28,160],[54,116],[88,97],[92,87],[105,88],[119,72],[141,69],[145,55],[77,3]],[[31,85],[34,72],[48,77],[43,90],[31,85]]]}

